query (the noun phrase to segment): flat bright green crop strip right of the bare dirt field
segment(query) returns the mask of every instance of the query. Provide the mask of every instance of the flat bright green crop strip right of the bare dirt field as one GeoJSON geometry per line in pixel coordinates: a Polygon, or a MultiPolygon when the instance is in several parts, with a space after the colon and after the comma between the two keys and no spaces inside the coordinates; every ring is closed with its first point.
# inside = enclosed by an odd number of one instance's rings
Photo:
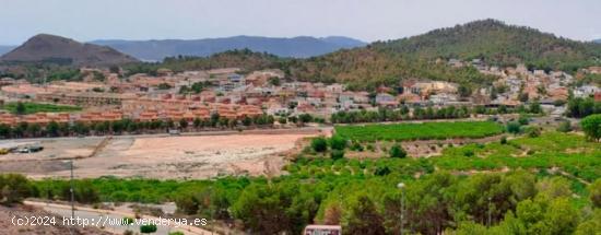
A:
{"type": "Polygon", "coordinates": [[[337,126],[335,133],[358,141],[403,141],[448,138],[483,138],[499,134],[503,126],[492,121],[457,121],[337,126]]]}

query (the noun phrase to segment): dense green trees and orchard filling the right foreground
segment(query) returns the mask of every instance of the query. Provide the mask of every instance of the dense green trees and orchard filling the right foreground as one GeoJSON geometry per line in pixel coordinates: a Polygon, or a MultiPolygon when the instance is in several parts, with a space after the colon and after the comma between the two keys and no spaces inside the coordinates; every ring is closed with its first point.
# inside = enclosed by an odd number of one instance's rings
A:
{"type": "MultiPolygon", "coordinates": [[[[181,213],[239,221],[258,234],[296,234],[308,223],[340,223],[345,234],[398,234],[401,191],[396,185],[404,181],[408,231],[590,234],[599,230],[599,151],[598,143],[576,134],[545,133],[450,148],[432,158],[302,157],[287,167],[288,175],[270,179],[84,179],[75,181],[75,192],[83,202],[176,201],[181,213]],[[526,150],[533,153],[512,156],[526,150]],[[466,156],[468,151],[475,155],[466,156]],[[469,172],[506,166],[515,171],[469,172]]],[[[69,197],[66,180],[34,181],[33,188],[42,198],[69,197]]]]}

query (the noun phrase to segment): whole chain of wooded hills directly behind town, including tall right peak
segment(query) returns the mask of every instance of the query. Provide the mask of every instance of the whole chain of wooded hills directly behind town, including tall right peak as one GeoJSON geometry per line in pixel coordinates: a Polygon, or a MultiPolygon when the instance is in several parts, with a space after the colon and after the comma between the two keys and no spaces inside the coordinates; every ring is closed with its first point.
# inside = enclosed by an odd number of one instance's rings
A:
{"type": "Polygon", "coordinates": [[[526,63],[530,68],[570,72],[600,64],[601,45],[561,38],[496,20],[483,20],[305,59],[236,50],[209,58],[172,58],[164,63],[139,67],[137,70],[160,67],[174,70],[209,69],[220,66],[248,70],[280,68],[288,77],[302,81],[340,82],[354,90],[367,91],[382,84],[396,86],[402,80],[412,78],[450,81],[468,89],[487,86],[497,79],[483,75],[472,67],[451,68],[439,58],[479,58],[488,64],[526,63]]]}

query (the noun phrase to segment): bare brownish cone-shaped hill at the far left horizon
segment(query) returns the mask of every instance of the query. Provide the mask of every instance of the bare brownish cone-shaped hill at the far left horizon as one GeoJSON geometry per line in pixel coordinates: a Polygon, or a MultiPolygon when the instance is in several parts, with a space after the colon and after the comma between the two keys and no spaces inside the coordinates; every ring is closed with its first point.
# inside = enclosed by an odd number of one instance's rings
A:
{"type": "Polygon", "coordinates": [[[107,46],[39,34],[0,57],[4,63],[47,62],[69,66],[109,66],[138,61],[107,46]]]}

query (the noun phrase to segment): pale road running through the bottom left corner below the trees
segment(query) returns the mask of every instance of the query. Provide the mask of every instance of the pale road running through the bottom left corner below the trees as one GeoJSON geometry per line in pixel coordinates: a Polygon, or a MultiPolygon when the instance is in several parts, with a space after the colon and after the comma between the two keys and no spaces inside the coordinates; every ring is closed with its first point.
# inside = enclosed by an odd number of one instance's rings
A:
{"type": "MultiPolygon", "coordinates": [[[[71,207],[66,204],[58,204],[58,203],[47,203],[47,202],[37,202],[37,201],[24,201],[24,204],[27,205],[34,205],[42,208],[45,211],[48,211],[54,214],[58,214],[63,218],[70,218],[71,216],[71,207]]],[[[113,210],[99,210],[99,209],[93,209],[93,208],[86,208],[86,207],[75,207],[75,218],[80,218],[83,220],[89,221],[97,221],[101,218],[103,221],[118,221],[122,218],[134,218],[134,214],[128,211],[113,211],[113,210]]],[[[150,220],[157,220],[155,216],[150,215],[140,215],[140,218],[143,219],[150,219],[150,220]]],[[[189,221],[190,222],[190,221],[189,221]]],[[[57,223],[62,223],[61,219],[57,219],[57,223]]],[[[131,224],[129,226],[127,225],[116,225],[116,223],[107,222],[105,223],[104,227],[101,227],[107,232],[114,233],[114,234],[123,234],[126,230],[130,230],[132,232],[139,232],[139,226],[131,224]]],[[[160,235],[167,235],[172,232],[182,232],[186,235],[211,235],[214,234],[210,231],[202,230],[200,227],[196,226],[189,226],[189,225],[176,225],[175,223],[170,223],[167,225],[158,225],[157,231],[154,234],[160,235]]]]}

